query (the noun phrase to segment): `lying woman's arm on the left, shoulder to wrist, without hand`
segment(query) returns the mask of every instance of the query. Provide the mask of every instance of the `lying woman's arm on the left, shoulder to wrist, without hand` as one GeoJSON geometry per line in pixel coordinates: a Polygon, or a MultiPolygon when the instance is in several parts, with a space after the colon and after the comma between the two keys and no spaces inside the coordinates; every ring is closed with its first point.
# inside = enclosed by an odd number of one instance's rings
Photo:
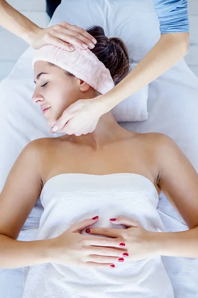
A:
{"type": "Polygon", "coordinates": [[[41,149],[37,144],[34,141],[23,149],[0,193],[0,268],[48,262],[50,239],[16,240],[42,190],[41,149]]]}

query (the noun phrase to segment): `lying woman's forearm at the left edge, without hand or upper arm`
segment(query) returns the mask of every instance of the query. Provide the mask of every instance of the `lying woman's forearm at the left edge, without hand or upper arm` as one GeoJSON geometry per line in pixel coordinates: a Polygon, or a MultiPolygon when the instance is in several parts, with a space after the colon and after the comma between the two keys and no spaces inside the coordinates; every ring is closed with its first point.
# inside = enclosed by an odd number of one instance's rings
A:
{"type": "Polygon", "coordinates": [[[15,269],[48,263],[51,241],[18,241],[0,234],[0,268],[15,269]]]}

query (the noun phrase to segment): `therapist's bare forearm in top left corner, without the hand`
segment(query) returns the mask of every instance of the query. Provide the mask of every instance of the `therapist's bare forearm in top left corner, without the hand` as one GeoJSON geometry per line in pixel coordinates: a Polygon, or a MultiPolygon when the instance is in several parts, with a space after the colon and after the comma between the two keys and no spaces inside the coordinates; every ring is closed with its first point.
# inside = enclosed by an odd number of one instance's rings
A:
{"type": "Polygon", "coordinates": [[[0,0],[0,26],[19,36],[30,44],[35,32],[40,28],[5,0],[0,0]]]}

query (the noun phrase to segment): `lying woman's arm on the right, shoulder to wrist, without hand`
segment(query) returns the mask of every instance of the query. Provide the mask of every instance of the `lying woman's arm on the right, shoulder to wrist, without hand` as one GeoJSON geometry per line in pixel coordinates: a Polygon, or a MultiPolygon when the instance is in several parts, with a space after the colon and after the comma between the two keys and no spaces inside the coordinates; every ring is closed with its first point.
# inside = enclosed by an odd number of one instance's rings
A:
{"type": "Polygon", "coordinates": [[[157,252],[164,256],[198,258],[198,173],[175,142],[161,135],[157,146],[158,185],[190,228],[154,233],[157,252]]]}

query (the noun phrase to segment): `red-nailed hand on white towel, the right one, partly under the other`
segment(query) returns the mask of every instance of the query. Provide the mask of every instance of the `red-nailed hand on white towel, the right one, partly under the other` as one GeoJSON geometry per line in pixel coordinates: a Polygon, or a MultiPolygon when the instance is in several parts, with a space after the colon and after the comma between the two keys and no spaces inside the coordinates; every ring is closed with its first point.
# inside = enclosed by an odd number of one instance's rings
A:
{"type": "Polygon", "coordinates": [[[123,224],[126,226],[126,229],[92,227],[87,230],[92,235],[105,235],[122,240],[126,244],[125,248],[129,254],[125,261],[137,261],[160,255],[155,242],[156,232],[150,232],[137,221],[121,216],[110,222],[112,224],[123,224]]]}

